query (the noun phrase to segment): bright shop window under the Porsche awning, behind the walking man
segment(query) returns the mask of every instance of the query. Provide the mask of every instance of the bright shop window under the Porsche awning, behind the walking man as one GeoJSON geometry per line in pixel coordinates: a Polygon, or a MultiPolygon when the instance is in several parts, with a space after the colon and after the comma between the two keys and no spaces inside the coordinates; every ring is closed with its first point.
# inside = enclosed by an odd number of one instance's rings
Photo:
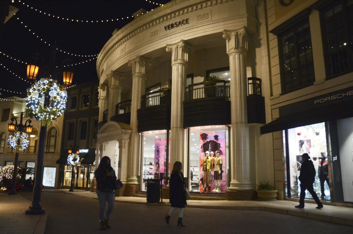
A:
{"type": "MultiPolygon", "coordinates": [[[[288,129],[285,131],[285,138],[288,139],[286,150],[287,165],[287,183],[290,184],[287,192],[288,197],[299,198],[300,167],[303,153],[308,153],[316,170],[315,182],[313,183],[314,191],[322,200],[330,201],[329,187],[329,160],[327,154],[327,139],[325,123],[317,123],[303,127],[288,129]],[[289,165],[289,167],[288,167],[289,165]]],[[[284,142],[286,143],[286,142],[284,142]]],[[[306,191],[305,198],[312,198],[311,194],[306,191]]]]}

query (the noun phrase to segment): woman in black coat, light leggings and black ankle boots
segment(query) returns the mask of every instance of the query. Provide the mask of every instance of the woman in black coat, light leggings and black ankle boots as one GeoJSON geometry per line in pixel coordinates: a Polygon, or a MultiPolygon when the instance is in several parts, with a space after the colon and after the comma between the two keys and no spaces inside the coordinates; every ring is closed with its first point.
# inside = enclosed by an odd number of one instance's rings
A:
{"type": "Polygon", "coordinates": [[[184,181],[183,164],[175,162],[172,170],[172,175],[169,179],[169,201],[172,204],[168,215],[166,215],[166,222],[169,224],[169,219],[172,213],[179,208],[178,226],[185,227],[183,224],[183,212],[186,205],[185,189],[186,184],[184,181]]]}

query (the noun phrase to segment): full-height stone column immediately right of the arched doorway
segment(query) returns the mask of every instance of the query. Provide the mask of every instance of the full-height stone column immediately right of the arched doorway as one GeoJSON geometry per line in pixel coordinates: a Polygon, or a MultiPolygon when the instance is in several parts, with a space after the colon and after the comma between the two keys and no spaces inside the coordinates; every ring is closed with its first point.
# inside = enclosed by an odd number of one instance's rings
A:
{"type": "MultiPolygon", "coordinates": [[[[138,153],[139,133],[137,131],[137,110],[141,105],[141,96],[145,93],[146,64],[149,59],[137,56],[129,60],[128,65],[132,67],[132,95],[131,95],[131,117],[130,127],[132,129],[130,152],[128,157],[127,185],[138,185],[138,153]]],[[[130,192],[130,191],[129,191],[130,192]]]]}

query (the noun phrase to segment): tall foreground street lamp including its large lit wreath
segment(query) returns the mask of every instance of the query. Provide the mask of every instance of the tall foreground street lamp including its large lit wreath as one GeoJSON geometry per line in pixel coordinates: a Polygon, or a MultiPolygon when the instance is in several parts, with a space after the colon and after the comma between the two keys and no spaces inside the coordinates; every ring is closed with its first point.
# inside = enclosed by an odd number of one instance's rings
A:
{"type": "MultiPolygon", "coordinates": [[[[41,205],[41,191],[43,180],[43,161],[45,143],[47,137],[47,126],[52,125],[52,121],[59,117],[65,109],[67,92],[56,82],[59,74],[54,72],[55,68],[56,46],[52,46],[50,62],[46,67],[43,65],[43,59],[40,54],[32,56],[34,62],[27,65],[27,77],[35,81],[27,90],[26,106],[29,109],[31,117],[41,120],[41,129],[39,134],[38,157],[36,178],[33,189],[32,204],[26,210],[28,215],[41,215],[45,211],[41,205]],[[38,60],[42,65],[37,66],[38,60]],[[44,67],[44,68],[43,68],[44,67]]],[[[66,65],[70,60],[65,60],[66,65]]],[[[63,64],[64,65],[64,64],[63,64]]],[[[68,66],[65,66],[68,67],[68,66]]],[[[73,74],[71,75],[72,82],[73,74]]]]}

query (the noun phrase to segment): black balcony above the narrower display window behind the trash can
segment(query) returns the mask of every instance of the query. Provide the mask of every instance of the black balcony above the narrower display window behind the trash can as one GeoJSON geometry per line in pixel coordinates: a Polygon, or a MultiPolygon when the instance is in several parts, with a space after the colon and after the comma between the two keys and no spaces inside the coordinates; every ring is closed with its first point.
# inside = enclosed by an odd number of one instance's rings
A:
{"type": "Polygon", "coordinates": [[[162,89],[142,96],[141,107],[137,110],[139,132],[170,129],[171,91],[162,89]]]}

